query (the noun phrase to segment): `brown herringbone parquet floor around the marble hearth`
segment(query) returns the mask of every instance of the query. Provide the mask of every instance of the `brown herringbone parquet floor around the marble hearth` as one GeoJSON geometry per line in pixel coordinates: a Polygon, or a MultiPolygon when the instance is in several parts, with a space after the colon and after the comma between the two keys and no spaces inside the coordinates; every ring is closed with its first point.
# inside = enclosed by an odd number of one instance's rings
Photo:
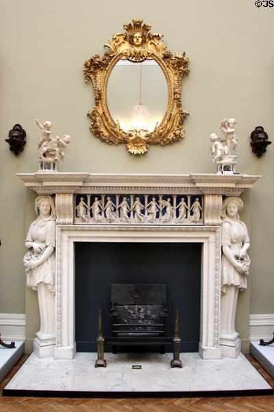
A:
{"type": "MultiPolygon", "coordinates": [[[[274,379],[251,356],[247,358],[274,388],[274,379]]],[[[17,398],[2,396],[2,389],[25,362],[14,365],[0,382],[0,412],[274,412],[274,396],[227,398],[17,398]]]]}

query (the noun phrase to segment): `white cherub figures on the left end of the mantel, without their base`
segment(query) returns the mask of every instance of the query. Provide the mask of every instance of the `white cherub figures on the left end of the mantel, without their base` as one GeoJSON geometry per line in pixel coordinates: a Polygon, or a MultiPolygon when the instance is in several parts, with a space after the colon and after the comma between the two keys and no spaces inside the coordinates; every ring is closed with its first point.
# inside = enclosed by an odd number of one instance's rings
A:
{"type": "Polygon", "coordinates": [[[36,124],[42,129],[42,137],[38,143],[38,149],[40,151],[40,162],[55,161],[60,158],[64,161],[64,148],[71,143],[71,137],[64,135],[61,139],[59,136],[51,136],[52,123],[47,120],[44,124],[40,124],[36,119],[36,124]]]}

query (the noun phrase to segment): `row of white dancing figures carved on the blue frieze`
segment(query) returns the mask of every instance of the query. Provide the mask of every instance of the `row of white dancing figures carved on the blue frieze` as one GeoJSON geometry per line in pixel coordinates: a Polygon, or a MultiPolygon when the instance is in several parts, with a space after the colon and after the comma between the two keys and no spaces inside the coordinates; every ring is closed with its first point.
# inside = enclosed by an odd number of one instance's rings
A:
{"type": "Polygon", "coordinates": [[[188,207],[184,197],[177,206],[171,205],[171,198],[166,200],[160,199],[159,204],[156,198],[147,204],[142,205],[140,198],[136,196],[132,207],[129,207],[127,197],[123,196],[123,199],[119,205],[114,205],[110,196],[107,196],[105,207],[103,207],[103,201],[95,197],[94,202],[90,207],[85,203],[84,197],[80,198],[78,205],[75,207],[77,215],[82,222],[88,222],[90,220],[89,211],[92,210],[93,222],[101,223],[152,223],[155,224],[158,211],[162,211],[165,208],[164,214],[158,218],[159,223],[181,223],[187,218],[187,210],[192,211],[192,216],[189,216],[191,222],[199,223],[201,218],[201,212],[203,211],[199,198],[195,198],[191,207],[188,207]],[[179,208],[179,216],[176,218],[176,209],[179,208]],[[115,209],[115,211],[114,211],[115,209]],[[142,210],[147,211],[147,216],[142,213],[142,210]],[[134,211],[134,216],[129,216],[129,212],[134,211]],[[120,213],[119,213],[120,212],[120,213]],[[133,218],[133,219],[132,219],[133,218]]]}

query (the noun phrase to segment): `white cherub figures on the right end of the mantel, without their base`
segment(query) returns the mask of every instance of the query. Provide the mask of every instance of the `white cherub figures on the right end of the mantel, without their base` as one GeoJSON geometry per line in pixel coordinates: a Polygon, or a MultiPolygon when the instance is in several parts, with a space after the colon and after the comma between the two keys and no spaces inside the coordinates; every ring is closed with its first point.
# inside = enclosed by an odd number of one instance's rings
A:
{"type": "Polygon", "coordinates": [[[223,119],[221,122],[220,130],[223,133],[223,137],[216,135],[216,133],[211,133],[210,141],[212,142],[211,154],[216,153],[214,163],[222,160],[231,159],[231,146],[234,150],[237,150],[238,139],[235,135],[235,124],[236,120],[232,117],[231,119],[223,119]]]}

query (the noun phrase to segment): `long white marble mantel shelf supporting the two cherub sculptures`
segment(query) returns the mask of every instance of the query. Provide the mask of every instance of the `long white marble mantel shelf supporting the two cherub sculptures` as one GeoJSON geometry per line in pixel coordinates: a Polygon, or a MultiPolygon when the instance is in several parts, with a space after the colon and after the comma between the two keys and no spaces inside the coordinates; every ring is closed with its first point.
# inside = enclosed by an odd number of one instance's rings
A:
{"type": "Polygon", "coordinates": [[[37,194],[121,193],[223,194],[240,196],[260,175],[249,174],[101,174],[88,172],[18,173],[37,194]]]}

